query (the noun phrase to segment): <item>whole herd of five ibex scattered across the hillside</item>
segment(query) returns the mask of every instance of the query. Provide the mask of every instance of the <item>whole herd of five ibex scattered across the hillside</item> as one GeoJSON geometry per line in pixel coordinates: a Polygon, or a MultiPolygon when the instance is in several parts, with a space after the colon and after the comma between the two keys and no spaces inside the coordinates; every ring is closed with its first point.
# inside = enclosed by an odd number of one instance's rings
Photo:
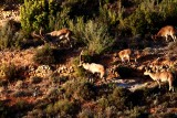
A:
{"type": "MultiPolygon", "coordinates": [[[[49,36],[52,39],[59,37],[59,40],[66,39],[72,47],[73,45],[71,42],[71,34],[72,34],[72,31],[70,31],[69,29],[53,31],[46,34],[42,34],[41,30],[40,30],[40,34],[37,34],[35,32],[33,33],[34,36],[41,37],[44,42],[48,41],[49,36]]],[[[159,39],[159,37],[165,37],[165,40],[168,41],[168,36],[170,36],[174,40],[174,42],[176,41],[177,30],[171,25],[162,28],[158,31],[158,33],[153,35],[152,37],[154,40],[159,39]]],[[[136,60],[139,57],[139,52],[135,52],[131,49],[125,49],[116,53],[116,55],[119,56],[122,63],[125,63],[126,61],[129,63],[132,56],[134,56],[134,60],[136,62],[136,60]]],[[[82,66],[84,69],[91,72],[92,74],[98,73],[100,78],[106,78],[105,75],[107,74],[106,74],[106,68],[104,67],[104,65],[96,64],[96,63],[85,63],[81,60],[81,56],[82,56],[82,52],[80,54],[80,65],[79,66],[82,66]]],[[[174,86],[173,86],[174,76],[170,72],[165,71],[165,72],[152,73],[150,71],[146,69],[144,72],[144,75],[149,75],[152,79],[156,81],[158,83],[159,88],[160,88],[160,82],[168,82],[169,90],[174,92],[174,86]]]]}

